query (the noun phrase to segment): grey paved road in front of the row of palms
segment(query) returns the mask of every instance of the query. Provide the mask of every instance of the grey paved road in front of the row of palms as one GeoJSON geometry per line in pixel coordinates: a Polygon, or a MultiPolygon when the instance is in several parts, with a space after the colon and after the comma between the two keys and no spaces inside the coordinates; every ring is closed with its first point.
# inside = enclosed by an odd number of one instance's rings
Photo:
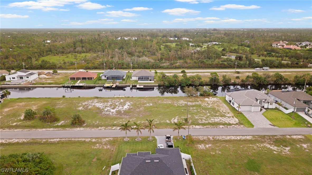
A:
{"type": "MultiPolygon", "coordinates": [[[[153,136],[177,135],[172,129],[155,129],[153,136]]],[[[180,135],[187,135],[188,130],[181,130],[180,135]]],[[[192,135],[303,135],[312,134],[312,128],[210,128],[190,129],[192,135]]],[[[57,130],[57,131],[1,131],[1,139],[31,139],[31,138],[91,138],[91,137],[124,137],[119,130],[57,130]]],[[[136,136],[129,132],[128,136],[136,136]]],[[[143,131],[141,136],[149,136],[143,131]]]]}

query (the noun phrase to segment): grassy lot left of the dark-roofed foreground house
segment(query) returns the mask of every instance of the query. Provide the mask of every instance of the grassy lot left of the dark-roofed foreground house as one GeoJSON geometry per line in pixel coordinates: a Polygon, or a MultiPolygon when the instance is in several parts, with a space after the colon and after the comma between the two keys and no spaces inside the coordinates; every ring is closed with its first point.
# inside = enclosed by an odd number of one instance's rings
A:
{"type": "Polygon", "coordinates": [[[107,175],[110,166],[121,163],[126,153],[138,151],[155,153],[156,142],[148,141],[147,138],[142,137],[139,142],[134,141],[135,137],[129,137],[128,142],[123,141],[124,138],[13,140],[17,141],[15,143],[3,143],[2,140],[1,155],[44,152],[55,163],[57,168],[55,174],[107,175]]]}

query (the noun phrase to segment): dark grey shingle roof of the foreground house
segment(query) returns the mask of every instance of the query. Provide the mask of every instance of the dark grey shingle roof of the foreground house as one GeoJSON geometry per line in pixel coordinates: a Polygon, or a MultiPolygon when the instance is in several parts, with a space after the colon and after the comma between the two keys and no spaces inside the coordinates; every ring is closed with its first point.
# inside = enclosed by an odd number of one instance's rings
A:
{"type": "Polygon", "coordinates": [[[127,153],[122,158],[120,175],[140,174],[185,174],[179,148],[156,148],[151,152],[127,153]]]}

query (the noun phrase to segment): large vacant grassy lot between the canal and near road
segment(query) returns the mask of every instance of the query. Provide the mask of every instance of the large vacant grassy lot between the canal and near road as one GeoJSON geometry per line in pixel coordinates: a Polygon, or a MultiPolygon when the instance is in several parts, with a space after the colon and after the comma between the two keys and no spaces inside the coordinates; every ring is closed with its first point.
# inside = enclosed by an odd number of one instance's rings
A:
{"type": "MultiPolygon", "coordinates": [[[[217,97],[77,97],[77,98],[12,98],[1,104],[1,129],[117,129],[130,120],[145,124],[145,119],[155,119],[155,125],[172,128],[173,123],[183,121],[188,114],[191,128],[243,128],[245,120],[236,118],[231,110],[217,97]],[[77,128],[70,125],[75,105],[86,125],[77,128]],[[18,108],[13,106],[19,106],[18,108]],[[41,114],[44,107],[56,109],[60,120],[42,123],[38,118],[22,120],[28,108],[41,114]]],[[[250,124],[246,124],[250,125],[250,124]]]]}

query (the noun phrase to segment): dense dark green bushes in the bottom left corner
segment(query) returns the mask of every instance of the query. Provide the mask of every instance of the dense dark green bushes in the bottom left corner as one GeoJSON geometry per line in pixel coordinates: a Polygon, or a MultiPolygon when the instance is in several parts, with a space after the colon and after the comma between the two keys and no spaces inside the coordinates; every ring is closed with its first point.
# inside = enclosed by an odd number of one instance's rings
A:
{"type": "Polygon", "coordinates": [[[25,172],[7,172],[7,174],[54,174],[54,171],[56,170],[56,167],[51,159],[49,159],[48,156],[43,153],[9,154],[1,155],[0,158],[1,168],[13,168],[13,170],[15,170],[16,168],[23,168],[25,172]]]}

